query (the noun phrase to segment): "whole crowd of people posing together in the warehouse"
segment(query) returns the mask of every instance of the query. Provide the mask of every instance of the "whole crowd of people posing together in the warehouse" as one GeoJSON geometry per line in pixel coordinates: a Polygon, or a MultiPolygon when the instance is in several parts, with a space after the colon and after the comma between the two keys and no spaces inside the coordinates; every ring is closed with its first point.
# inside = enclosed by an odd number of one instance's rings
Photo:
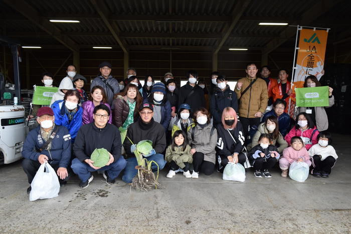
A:
{"type": "MultiPolygon", "coordinates": [[[[196,71],[187,73],[188,82],[180,88],[170,72],[162,82],[146,75],[142,86],[133,68],[121,81],[111,71],[110,63],[101,63],[87,95],[87,79],[70,65],[50,106],[33,106],[30,117],[37,116],[40,126],[28,134],[23,147],[29,183],[44,162],[57,171],[62,185],[70,168],[81,188],[93,180],[93,171],[102,171],[109,184],[124,171],[122,180],[131,183],[137,173],[133,152],[142,140],[152,142],[143,157],[155,161],[158,169],[168,163],[168,178],[177,172],[186,178],[198,178],[200,172],[211,175],[215,168],[223,172],[228,162],[250,162],[256,177],[271,177],[269,170],[278,161],[283,177],[293,161],[306,162],[313,176],[328,177],[336,161],[324,107],[299,107],[296,120],[288,113],[296,109],[295,94],[284,69],[278,82],[267,66],[258,78],[256,65],[250,63],[234,90],[225,75],[213,72],[210,92],[196,71]],[[110,154],[103,167],[94,166],[90,158],[99,148],[110,154]]],[[[52,87],[51,74],[44,73],[42,83],[52,87]]],[[[315,86],[320,86],[318,80],[308,76],[305,87],[315,86]]],[[[329,88],[329,106],[333,103],[329,88]]]]}

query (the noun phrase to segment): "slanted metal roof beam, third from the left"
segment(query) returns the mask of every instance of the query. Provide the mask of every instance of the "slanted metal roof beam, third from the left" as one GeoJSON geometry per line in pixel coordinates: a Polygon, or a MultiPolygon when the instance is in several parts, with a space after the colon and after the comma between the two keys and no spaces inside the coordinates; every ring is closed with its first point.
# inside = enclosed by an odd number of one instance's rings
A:
{"type": "Polygon", "coordinates": [[[222,31],[222,39],[218,42],[214,54],[217,54],[220,50],[223,44],[226,42],[230,34],[232,33],[234,27],[240,20],[241,16],[243,15],[246,7],[249,5],[251,0],[242,0],[238,1],[237,4],[234,7],[233,13],[232,13],[232,21],[230,24],[228,24],[222,31]]]}

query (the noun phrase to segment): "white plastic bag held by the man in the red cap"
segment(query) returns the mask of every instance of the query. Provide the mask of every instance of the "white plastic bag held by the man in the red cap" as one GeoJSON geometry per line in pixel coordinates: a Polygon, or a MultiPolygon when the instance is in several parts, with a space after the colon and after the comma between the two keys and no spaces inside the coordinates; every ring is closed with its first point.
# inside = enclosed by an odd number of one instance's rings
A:
{"type": "Polygon", "coordinates": [[[54,168],[48,162],[43,163],[31,183],[29,200],[53,198],[59,195],[60,183],[54,168]],[[45,172],[44,172],[44,169],[45,172]]]}

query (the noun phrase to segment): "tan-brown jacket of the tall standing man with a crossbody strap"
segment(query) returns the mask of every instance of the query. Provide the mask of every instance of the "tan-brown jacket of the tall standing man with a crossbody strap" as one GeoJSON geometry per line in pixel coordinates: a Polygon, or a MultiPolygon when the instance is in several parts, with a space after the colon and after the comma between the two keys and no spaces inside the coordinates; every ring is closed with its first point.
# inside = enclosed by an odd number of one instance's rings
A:
{"type": "MultiPolygon", "coordinates": [[[[250,85],[254,79],[249,79],[247,76],[238,80],[243,85],[238,90],[238,84],[235,86],[234,92],[237,94],[238,99],[241,93],[250,85]]],[[[262,114],[265,112],[268,104],[268,91],[267,84],[261,78],[249,88],[239,101],[239,116],[245,118],[255,118],[256,112],[260,111],[262,114]]]]}

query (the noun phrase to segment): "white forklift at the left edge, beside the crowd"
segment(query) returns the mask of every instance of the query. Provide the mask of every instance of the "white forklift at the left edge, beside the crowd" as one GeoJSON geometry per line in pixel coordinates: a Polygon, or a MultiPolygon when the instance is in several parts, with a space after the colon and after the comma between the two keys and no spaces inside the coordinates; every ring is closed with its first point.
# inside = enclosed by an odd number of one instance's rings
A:
{"type": "Polygon", "coordinates": [[[25,107],[21,105],[21,82],[19,70],[19,43],[0,36],[0,46],[10,47],[14,62],[14,83],[6,84],[0,73],[0,165],[15,162],[22,157],[26,139],[25,107]]]}

